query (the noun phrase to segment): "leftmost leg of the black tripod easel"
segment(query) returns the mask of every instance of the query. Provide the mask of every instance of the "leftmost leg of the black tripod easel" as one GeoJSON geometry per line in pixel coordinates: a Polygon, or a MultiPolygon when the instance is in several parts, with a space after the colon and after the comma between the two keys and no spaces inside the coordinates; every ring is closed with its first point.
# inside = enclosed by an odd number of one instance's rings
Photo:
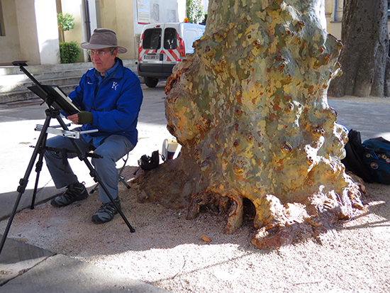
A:
{"type": "Polygon", "coordinates": [[[48,136],[48,134],[46,133],[46,130],[48,129],[49,124],[50,124],[50,117],[46,116],[46,120],[45,120],[45,124],[43,126],[43,130],[41,131],[40,136],[38,138],[38,142],[35,145],[34,152],[33,152],[33,155],[30,158],[30,162],[28,163],[28,167],[27,167],[26,173],[25,173],[24,177],[19,181],[20,185],[18,186],[18,189],[17,189],[19,194],[18,194],[18,197],[16,198],[16,202],[15,202],[15,205],[13,206],[13,210],[11,212],[11,215],[9,216],[9,220],[8,220],[8,223],[7,223],[7,226],[6,226],[6,231],[4,231],[3,238],[1,238],[0,254],[1,254],[1,250],[3,250],[4,243],[6,242],[6,238],[8,236],[9,229],[11,228],[13,217],[15,216],[16,211],[18,210],[18,206],[19,206],[19,203],[21,201],[22,194],[26,191],[26,186],[27,186],[27,183],[28,183],[28,177],[30,177],[31,170],[33,170],[34,162],[35,162],[35,160],[36,160],[40,150],[45,147],[45,145],[43,143],[45,143],[46,138],[48,136]]]}

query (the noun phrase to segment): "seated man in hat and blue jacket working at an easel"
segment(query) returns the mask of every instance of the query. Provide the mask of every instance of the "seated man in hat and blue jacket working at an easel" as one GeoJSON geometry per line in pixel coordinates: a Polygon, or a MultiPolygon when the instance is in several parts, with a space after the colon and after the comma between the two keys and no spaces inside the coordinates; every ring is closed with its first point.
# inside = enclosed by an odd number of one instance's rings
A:
{"type": "MultiPolygon", "coordinates": [[[[101,182],[106,186],[111,197],[120,207],[118,198],[118,170],[116,161],[133,150],[138,141],[138,113],[143,101],[140,80],[130,69],[123,66],[118,53],[127,52],[118,46],[116,33],[105,28],[97,28],[89,43],[81,47],[89,50],[94,68],[88,70],[69,98],[81,110],[79,114],[67,116],[74,124],[81,124],[76,130],[88,131],[98,129],[97,133],[82,134],[74,143],[88,153],[94,150],[102,158],[92,158],[101,182]]],[[[56,136],[48,139],[46,146],[74,150],[69,138],[56,136]]],[[[76,153],[67,153],[75,157],[76,153]]],[[[61,207],[74,201],[87,199],[88,192],[84,184],[74,175],[67,160],[61,153],[45,152],[45,161],[55,187],[67,190],[60,197],[52,199],[52,206],[61,207]]],[[[113,219],[118,211],[103,189],[99,192],[101,207],[92,216],[94,223],[106,223],[113,219]]]]}

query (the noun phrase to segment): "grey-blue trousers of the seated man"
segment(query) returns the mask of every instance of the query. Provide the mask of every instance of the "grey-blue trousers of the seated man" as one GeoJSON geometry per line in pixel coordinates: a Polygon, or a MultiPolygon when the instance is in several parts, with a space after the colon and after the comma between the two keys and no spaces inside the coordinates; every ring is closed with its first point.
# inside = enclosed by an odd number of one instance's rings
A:
{"type": "MultiPolygon", "coordinates": [[[[46,142],[46,146],[51,148],[62,148],[67,150],[75,150],[74,145],[71,142],[72,138],[65,138],[62,136],[55,136],[49,138],[46,142]]],[[[93,145],[87,143],[84,138],[74,139],[80,150],[84,153],[88,153],[93,145]]],[[[92,165],[94,165],[96,172],[101,178],[101,182],[107,187],[111,197],[116,199],[118,197],[118,170],[116,169],[116,161],[121,159],[126,153],[133,150],[134,145],[124,136],[108,136],[99,147],[94,150],[97,155],[102,155],[103,158],[92,158],[92,165]]],[[[67,158],[76,157],[76,153],[67,153],[67,158]]],[[[55,187],[60,189],[66,187],[69,184],[77,182],[77,176],[74,175],[72,168],[67,162],[67,158],[62,157],[62,153],[54,151],[45,151],[45,161],[48,166],[50,175],[55,183],[55,187]]],[[[106,204],[110,201],[106,192],[102,188],[99,189],[99,199],[102,203],[106,204]]]]}

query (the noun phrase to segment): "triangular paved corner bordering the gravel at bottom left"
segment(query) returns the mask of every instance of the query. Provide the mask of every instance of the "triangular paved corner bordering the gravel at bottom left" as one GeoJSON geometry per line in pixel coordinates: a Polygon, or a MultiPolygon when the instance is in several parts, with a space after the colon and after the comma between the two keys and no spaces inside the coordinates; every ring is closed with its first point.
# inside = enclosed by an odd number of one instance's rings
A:
{"type": "Polygon", "coordinates": [[[169,292],[13,239],[7,239],[0,255],[0,274],[4,293],[169,292]]]}

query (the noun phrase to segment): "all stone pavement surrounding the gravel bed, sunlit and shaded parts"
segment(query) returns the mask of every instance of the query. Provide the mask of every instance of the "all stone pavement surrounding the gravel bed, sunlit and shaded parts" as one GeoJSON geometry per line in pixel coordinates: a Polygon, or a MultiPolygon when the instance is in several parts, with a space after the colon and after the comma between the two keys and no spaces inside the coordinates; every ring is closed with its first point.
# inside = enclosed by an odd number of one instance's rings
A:
{"type": "MultiPolygon", "coordinates": [[[[160,150],[162,141],[171,136],[166,129],[164,83],[155,89],[143,86],[144,103],[140,113],[139,143],[130,153],[128,165],[137,165],[141,155],[160,150]]],[[[338,123],[360,131],[362,140],[383,136],[390,139],[390,104],[331,99],[338,112],[338,123]]],[[[11,213],[18,180],[23,177],[39,133],[36,123],[43,123],[45,105],[40,100],[0,104],[0,219],[11,213]],[[6,143],[5,143],[6,142],[6,143]]],[[[53,125],[53,124],[52,124],[53,125]]],[[[55,124],[54,124],[55,125],[55,124]]],[[[77,159],[71,161],[77,175],[87,186],[94,184],[89,170],[77,159]]],[[[23,194],[19,209],[30,205],[35,170],[23,194]]],[[[56,193],[45,167],[40,175],[37,202],[47,201],[56,193]]],[[[11,226],[12,229],[12,226],[11,226]]],[[[3,231],[0,231],[1,233],[3,231]]],[[[1,235],[0,235],[1,236],[1,235]]],[[[115,272],[51,253],[21,241],[8,238],[0,255],[0,292],[167,292],[145,282],[131,280],[115,272]]]]}

